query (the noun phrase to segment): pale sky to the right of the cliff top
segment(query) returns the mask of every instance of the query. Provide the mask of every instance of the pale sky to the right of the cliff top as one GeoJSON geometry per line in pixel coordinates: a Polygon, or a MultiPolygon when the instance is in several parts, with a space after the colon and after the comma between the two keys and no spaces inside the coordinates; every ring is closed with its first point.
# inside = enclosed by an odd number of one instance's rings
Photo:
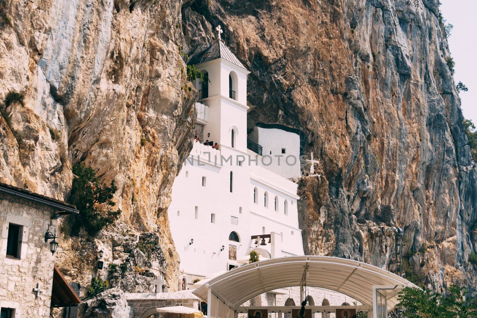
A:
{"type": "Polygon", "coordinates": [[[460,92],[464,117],[477,126],[477,0],[440,0],[442,16],[454,25],[448,38],[456,66],[454,81],[463,82],[468,92],[460,92]]]}

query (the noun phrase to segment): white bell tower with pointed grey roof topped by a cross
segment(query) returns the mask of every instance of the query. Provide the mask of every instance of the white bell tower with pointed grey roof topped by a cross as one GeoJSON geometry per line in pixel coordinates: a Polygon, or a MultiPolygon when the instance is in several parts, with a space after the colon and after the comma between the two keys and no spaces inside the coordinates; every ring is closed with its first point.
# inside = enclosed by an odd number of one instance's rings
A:
{"type": "Polygon", "coordinates": [[[208,106],[208,121],[200,137],[202,141],[208,139],[220,146],[247,152],[247,75],[250,72],[221,41],[220,26],[216,31],[218,40],[190,62],[208,78],[206,83],[200,80],[194,83],[201,92],[197,102],[208,106]]]}

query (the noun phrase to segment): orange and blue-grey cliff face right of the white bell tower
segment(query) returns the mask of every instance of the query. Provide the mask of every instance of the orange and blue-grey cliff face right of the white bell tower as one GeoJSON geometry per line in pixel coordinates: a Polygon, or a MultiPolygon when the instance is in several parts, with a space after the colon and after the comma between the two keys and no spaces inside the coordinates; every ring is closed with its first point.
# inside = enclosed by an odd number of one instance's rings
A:
{"type": "Polygon", "coordinates": [[[477,286],[477,168],[436,0],[202,0],[183,20],[190,51],[220,24],[251,71],[249,128],[307,134],[320,160],[299,181],[307,253],[387,267],[397,225],[415,281],[477,286]]]}

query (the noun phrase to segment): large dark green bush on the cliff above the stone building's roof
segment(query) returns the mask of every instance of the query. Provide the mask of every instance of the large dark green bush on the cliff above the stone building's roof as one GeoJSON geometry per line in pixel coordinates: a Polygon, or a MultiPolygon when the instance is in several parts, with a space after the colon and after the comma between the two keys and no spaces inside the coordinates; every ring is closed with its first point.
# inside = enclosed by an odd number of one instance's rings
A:
{"type": "Polygon", "coordinates": [[[104,227],[119,218],[121,210],[113,210],[113,194],[117,187],[114,180],[110,186],[104,185],[96,173],[84,164],[73,165],[73,185],[70,202],[80,211],[82,225],[95,236],[104,227]]]}

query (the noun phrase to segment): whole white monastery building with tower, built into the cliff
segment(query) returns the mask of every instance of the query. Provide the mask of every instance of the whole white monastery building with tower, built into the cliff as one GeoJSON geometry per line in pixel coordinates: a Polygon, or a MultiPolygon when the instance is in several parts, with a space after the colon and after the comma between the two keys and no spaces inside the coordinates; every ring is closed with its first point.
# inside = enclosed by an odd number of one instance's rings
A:
{"type": "Polygon", "coordinates": [[[194,82],[201,93],[201,142],[194,142],[176,177],[168,210],[183,286],[248,263],[252,250],[260,260],[303,255],[297,185],[287,179],[300,174],[299,135],[258,127],[247,138],[249,71],[221,41],[197,58],[196,67],[209,80],[194,82]]]}

